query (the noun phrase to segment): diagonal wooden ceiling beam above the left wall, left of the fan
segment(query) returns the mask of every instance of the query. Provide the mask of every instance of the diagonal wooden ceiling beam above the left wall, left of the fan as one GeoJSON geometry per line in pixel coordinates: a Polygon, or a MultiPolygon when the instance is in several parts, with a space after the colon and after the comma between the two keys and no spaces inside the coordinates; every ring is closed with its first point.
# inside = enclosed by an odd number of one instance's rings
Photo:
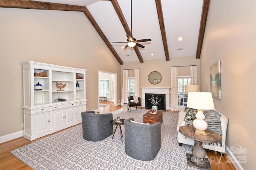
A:
{"type": "Polygon", "coordinates": [[[122,65],[123,61],[120,59],[120,57],[118,56],[118,54],[116,53],[116,51],[114,50],[113,46],[110,44],[110,42],[108,41],[107,37],[105,36],[105,34],[102,32],[102,30],[100,29],[99,25],[96,23],[96,21],[94,20],[94,18],[92,17],[92,14],[89,12],[89,10],[86,8],[86,10],[84,10],[84,14],[85,16],[88,18],[88,20],[92,23],[93,27],[96,29],[96,31],[98,32],[98,34],[100,35],[100,37],[103,39],[103,41],[106,43],[106,45],[108,46],[108,48],[110,49],[110,51],[113,53],[113,55],[116,57],[117,61],[122,65]]]}

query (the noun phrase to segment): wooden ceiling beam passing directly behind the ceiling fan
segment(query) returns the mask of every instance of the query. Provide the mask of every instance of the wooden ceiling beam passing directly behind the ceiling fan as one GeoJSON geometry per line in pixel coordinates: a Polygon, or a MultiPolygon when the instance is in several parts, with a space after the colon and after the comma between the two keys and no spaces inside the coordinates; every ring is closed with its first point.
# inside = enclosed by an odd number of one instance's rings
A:
{"type": "MultiPolygon", "coordinates": [[[[129,26],[128,26],[125,18],[124,18],[124,14],[123,14],[123,12],[122,12],[122,10],[121,10],[117,0],[112,0],[111,3],[112,3],[112,5],[113,5],[113,7],[114,7],[114,9],[116,11],[116,14],[117,14],[119,20],[121,21],[121,23],[122,23],[122,25],[124,27],[124,30],[125,30],[126,34],[132,35],[132,33],[130,31],[130,28],[129,28],[129,26]]],[[[138,59],[140,60],[140,63],[144,63],[138,47],[134,46],[133,48],[134,48],[134,51],[135,51],[136,55],[138,56],[138,59]]]]}

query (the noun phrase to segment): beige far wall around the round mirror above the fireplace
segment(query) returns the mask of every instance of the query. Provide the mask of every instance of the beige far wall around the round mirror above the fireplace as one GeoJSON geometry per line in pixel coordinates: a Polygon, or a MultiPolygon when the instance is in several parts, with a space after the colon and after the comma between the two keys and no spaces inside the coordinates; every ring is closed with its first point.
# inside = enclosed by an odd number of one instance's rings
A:
{"type": "MultiPolygon", "coordinates": [[[[171,87],[171,66],[178,67],[179,76],[190,76],[190,66],[197,65],[198,84],[200,82],[200,60],[192,57],[177,57],[171,58],[166,62],[166,59],[144,61],[143,64],[138,62],[126,62],[121,66],[121,74],[123,69],[140,68],[140,87],[171,87]],[[159,84],[151,84],[148,81],[148,74],[152,71],[158,71],[162,75],[162,80],[159,84]]],[[[128,77],[134,77],[134,70],[128,70],[128,77]]],[[[121,76],[122,82],[122,76],[121,76]]],[[[140,88],[140,97],[142,97],[142,89],[140,88]]],[[[171,100],[169,100],[171,101],[171,100]]],[[[170,102],[171,103],[171,102],[170,102]]]]}

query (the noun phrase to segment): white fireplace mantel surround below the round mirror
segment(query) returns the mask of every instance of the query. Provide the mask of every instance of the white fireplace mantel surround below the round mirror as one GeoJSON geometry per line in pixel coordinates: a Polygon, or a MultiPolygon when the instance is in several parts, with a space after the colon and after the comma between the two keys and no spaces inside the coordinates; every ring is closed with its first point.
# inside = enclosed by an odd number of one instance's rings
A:
{"type": "Polygon", "coordinates": [[[140,87],[142,88],[142,107],[145,107],[145,94],[165,94],[165,108],[170,110],[169,104],[169,94],[170,94],[170,87],[140,87]]]}

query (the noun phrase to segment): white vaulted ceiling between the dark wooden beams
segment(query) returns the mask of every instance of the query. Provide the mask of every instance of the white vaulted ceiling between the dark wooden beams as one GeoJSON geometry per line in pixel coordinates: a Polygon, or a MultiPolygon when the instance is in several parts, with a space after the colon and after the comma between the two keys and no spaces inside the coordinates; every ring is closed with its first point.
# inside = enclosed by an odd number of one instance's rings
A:
{"type": "MultiPolygon", "coordinates": [[[[114,47],[123,62],[139,61],[133,48],[122,49],[126,32],[109,0],[38,0],[60,4],[87,6],[94,20],[114,47]]],[[[161,0],[170,59],[194,56],[198,43],[203,0],[161,0]],[[178,38],[182,37],[182,41],[178,38]],[[182,48],[182,50],[178,50],[182,48]]],[[[118,0],[131,29],[131,1],[118,0]]],[[[144,61],[166,59],[156,11],[155,0],[132,0],[132,35],[138,39],[152,39],[138,47],[144,61]],[[151,54],[154,56],[151,56],[151,54]]]]}

